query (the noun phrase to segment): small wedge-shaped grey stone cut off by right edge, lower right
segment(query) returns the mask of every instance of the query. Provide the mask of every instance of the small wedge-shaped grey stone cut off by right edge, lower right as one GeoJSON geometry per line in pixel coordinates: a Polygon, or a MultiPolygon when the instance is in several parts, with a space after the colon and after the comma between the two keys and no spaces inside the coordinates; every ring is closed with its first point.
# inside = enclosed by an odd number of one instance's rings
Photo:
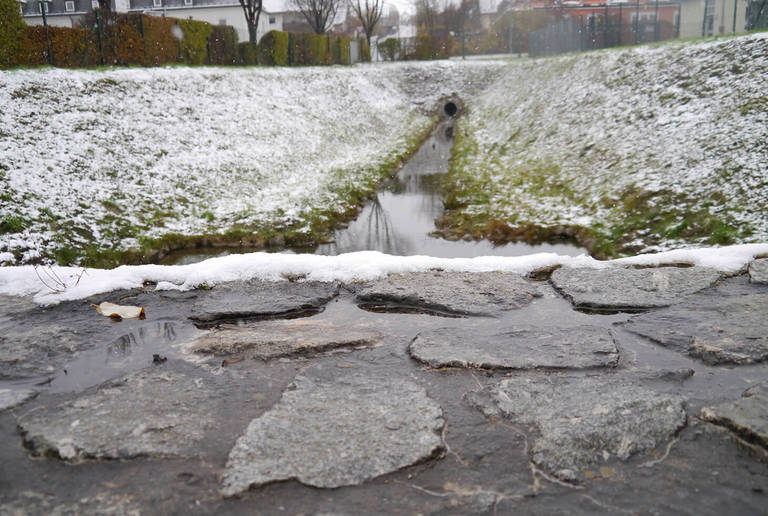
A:
{"type": "Polygon", "coordinates": [[[768,449],[768,382],[747,389],[732,403],[702,408],[701,417],[768,449]]]}

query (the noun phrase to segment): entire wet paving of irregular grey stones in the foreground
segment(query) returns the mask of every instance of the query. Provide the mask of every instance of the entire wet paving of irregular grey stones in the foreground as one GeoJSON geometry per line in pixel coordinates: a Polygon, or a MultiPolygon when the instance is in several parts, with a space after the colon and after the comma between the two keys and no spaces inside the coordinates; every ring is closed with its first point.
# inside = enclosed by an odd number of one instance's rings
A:
{"type": "Polygon", "coordinates": [[[766,296],[745,272],[604,313],[433,271],[0,298],[28,339],[2,365],[0,513],[763,513],[766,296]]]}

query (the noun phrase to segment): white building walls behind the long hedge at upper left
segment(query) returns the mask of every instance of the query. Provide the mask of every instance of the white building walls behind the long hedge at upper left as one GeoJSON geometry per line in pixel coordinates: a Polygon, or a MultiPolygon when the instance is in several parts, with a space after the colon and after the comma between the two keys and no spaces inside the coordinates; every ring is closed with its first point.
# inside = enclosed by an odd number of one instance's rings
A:
{"type": "MultiPolygon", "coordinates": [[[[28,25],[43,24],[43,4],[48,24],[57,27],[78,27],[85,15],[98,7],[97,0],[22,1],[21,10],[28,25]]],[[[144,13],[230,25],[237,31],[239,41],[248,41],[248,25],[238,0],[112,0],[112,9],[119,13],[144,13]]],[[[264,0],[258,38],[271,30],[283,30],[285,12],[282,0],[264,0]]]]}

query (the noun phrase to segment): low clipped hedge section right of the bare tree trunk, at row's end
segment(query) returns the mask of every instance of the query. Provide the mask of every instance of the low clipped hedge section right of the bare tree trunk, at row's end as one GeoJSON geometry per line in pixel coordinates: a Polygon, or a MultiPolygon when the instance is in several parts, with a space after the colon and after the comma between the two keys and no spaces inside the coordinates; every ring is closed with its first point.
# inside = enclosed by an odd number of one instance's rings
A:
{"type": "Polygon", "coordinates": [[[259,41],[258,55],[260,64],[274,66],[349,64],[350,44],[342,36],[273,30],[259,41]]]}

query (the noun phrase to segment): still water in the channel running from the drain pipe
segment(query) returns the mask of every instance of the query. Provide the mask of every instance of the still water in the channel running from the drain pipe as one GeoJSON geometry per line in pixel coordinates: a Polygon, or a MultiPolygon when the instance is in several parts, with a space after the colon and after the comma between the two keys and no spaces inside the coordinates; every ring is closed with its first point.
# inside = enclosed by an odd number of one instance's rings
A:
{"type": "MultiPolygon", "coordinates": [[[[575,245],[513,242],[496,246],[487,240],[445,240],[429,236],[435,220],[443,215],[442,181],[450,168],[453,121],[441,123],[397,177],[383,185],[360,215],[334,232],[332,242],[315,254],[338,255],[355,251],[381,251],[395,256],[426,255],[439,258],[524,256],[557,253],[578,256],[589,252],[575,245]]],[[[312,249],[191,249],[171,253],[161,263],[186,265],[208,258],[248,252],[311,253],[312,249]]]]}

